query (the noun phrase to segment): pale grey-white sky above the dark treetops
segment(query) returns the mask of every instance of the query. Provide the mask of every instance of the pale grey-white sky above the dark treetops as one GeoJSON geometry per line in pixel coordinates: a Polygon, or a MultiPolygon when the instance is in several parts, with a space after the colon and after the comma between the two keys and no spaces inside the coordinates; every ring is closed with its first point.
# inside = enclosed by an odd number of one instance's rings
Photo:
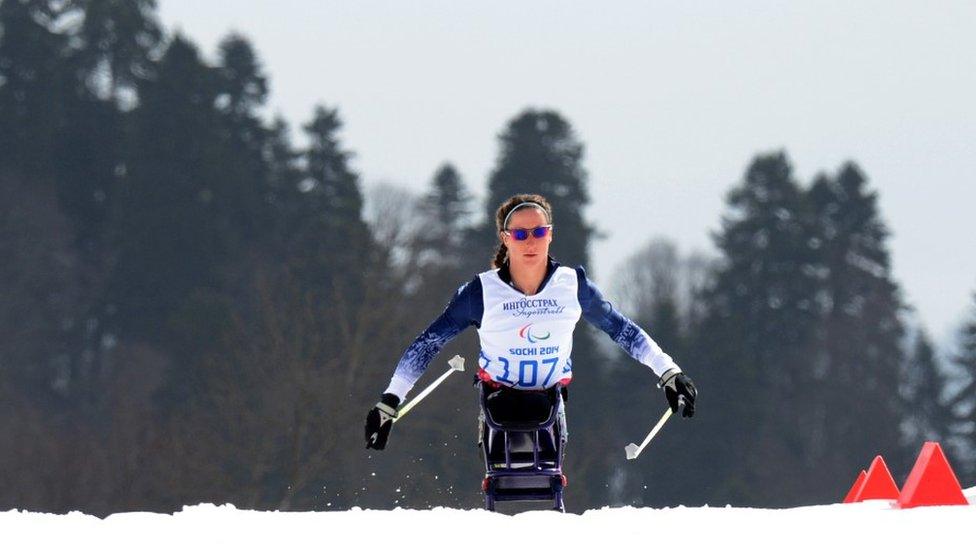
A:
{"type": "Polygon", "coordinates": [[[528,107],[559,111],[586,147],[586,213],[606,234],[590,271],[602,285],[655,237],[716,253],[727,191],[756,154],[786,150],[804,183],[848,160],[864,170],[894,276],[938,343],[974,312],[976,2],[159,8],[210,60],[229,32],[250,38],[269,116],[297,127],[317,104],[338,107],[367,189],[421,192],[450,161],[483,197],[506,123],[528,107]]]}

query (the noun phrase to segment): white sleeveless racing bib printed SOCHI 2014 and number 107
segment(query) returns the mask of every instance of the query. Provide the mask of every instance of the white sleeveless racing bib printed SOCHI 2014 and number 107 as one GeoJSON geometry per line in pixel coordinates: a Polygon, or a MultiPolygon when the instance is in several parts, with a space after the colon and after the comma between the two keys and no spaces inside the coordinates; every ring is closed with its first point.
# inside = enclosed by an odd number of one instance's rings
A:
{"type": "Polygon", "coordinates": [[[479,364],[492,380],[516,389],[547,389],[573,376],[573,329],[582,309],[576,271],[557,267],[536,295],[526,296],[498,276],[478,275],[484,315],[479,364]]]}

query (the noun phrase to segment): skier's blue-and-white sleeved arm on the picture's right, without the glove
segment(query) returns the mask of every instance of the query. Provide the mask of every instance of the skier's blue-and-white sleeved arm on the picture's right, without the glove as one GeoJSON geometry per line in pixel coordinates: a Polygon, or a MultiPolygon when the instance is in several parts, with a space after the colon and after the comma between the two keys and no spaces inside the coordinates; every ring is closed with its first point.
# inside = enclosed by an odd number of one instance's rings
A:
{"type": "Polygon", "coordinates": [[[577,294],[580,306],[583,308],[583,318],[606,332],[610,339],[635,360],[650,367],[658,377],[667,372],[681,372],[681,368],[661,350],[647,332],[620,314],[609,301],[603,298],[600,290],[586,278],[583,267],[576,267],[576,277],[579,281],[577,294]]]}

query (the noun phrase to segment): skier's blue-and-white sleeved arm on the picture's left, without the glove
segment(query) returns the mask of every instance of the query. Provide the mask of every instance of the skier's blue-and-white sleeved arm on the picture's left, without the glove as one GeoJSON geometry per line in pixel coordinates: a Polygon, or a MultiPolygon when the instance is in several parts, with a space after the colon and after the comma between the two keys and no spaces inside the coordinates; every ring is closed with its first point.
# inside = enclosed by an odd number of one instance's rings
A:
{"type": "Polygon", "coordinates": [[[403,402],[444,345],[468,326],[481,326],[483,314],[481,279],[476,276],[458,288],[444,312],[407,347],[385,392],[396,395],[403,402]]]}

